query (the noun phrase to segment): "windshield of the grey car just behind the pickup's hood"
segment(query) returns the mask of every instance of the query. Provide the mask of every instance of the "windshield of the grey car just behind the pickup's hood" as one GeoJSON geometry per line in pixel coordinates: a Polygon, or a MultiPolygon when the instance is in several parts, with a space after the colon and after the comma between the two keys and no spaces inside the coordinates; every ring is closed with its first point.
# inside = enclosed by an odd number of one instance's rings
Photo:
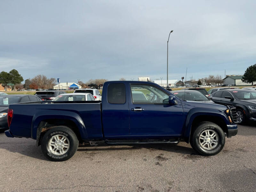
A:
{"type": "Polygon", "coordinates": [[[189,100],[189,101],[208,101],[208,100],[210,100],[201,92],[186,91],[186,92],[174,92],[173,94],[182,100],[189,100]]]}

